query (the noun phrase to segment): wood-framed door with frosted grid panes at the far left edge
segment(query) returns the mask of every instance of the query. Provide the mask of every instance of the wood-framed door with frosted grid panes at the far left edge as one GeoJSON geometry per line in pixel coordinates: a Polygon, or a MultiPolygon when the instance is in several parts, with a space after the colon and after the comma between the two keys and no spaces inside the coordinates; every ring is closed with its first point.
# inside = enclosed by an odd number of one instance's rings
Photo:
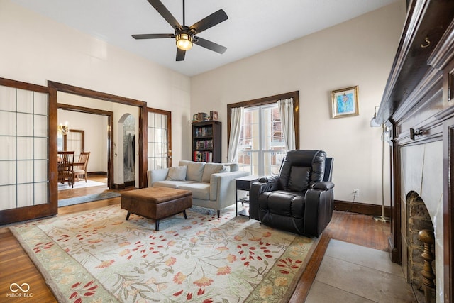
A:
{"type": "Polygon", "coordinates": [[[49,102],[48,87],[0,78],[0,225],[57,214],[49,102]]]}

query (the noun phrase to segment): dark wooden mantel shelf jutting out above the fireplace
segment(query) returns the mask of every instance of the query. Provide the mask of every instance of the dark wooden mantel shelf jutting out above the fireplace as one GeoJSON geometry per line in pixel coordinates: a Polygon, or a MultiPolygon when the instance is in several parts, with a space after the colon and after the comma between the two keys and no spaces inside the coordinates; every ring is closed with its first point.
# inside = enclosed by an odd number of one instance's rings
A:
{"type": "MultiPolygon", "coordinates": [[[[428,64],[433,50],[454,17],[449,0],[409,0],[401,40],[384,89],[377,122],[383,123],[397,109],[413,107],[410,94],[421,89],[423,78],[433,67],[428,64]]],[[[438,52],[444,53],[444,52],[438,52]]],[[[439,67],[436,67],[440,70],[439,67]]]]}

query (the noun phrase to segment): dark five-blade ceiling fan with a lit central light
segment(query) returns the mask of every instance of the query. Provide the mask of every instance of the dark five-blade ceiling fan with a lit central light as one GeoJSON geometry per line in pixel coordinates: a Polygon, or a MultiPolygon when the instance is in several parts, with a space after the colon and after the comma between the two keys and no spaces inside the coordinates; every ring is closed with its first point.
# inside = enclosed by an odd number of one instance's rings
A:
{"type": "Polygon", "coordinates": [[[201,21],[194,23],[192,26],[184,25],[184,0],[183,0],[183,25],[179,24],[177,19],[172,16],[172,13],[168,11],[164,4],[160,0],[148,0],[150,4],[156,9],[158,13],[165,18],[172,28],[175,29],[175,33],[150,33],[150,34],[140,34],[132,35],[134,39],[159,39],[159,38],[175,38],[177,42],[177,61],[183,61],[186,51],[192,48],[192,44],[201,46],[202,48],[207,48],[213,50],[216,53],[223,54],[227,48],[218,45],[217,43],[211,42],[209,40],[202,39],[196,35],[205,31],[217,24],[226,21],[228,16],[225,11],[222,9],[211,13],[211,15],[206,16],[201,19],[201,21]]]}

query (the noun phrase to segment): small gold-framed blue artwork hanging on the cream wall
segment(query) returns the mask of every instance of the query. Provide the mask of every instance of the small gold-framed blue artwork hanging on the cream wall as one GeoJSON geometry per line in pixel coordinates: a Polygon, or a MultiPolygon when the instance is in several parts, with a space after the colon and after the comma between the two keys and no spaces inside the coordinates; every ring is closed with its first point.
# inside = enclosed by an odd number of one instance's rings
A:
{"type": "Polygon", "coordinates": [[[331,92],[332,118],[358,116],[358,85],[331,92]]]}

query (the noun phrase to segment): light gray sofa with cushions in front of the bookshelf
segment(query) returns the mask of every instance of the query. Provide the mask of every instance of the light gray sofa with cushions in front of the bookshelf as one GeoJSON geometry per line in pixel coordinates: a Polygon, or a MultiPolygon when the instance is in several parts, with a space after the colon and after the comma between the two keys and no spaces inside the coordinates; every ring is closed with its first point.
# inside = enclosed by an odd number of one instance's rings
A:
{"type": "Polygon", "coordinates": [[[236,163],[179,161],[177,167],[148,170],[148,187],[171,187],[192,192],[192,204],[221,209],[235,204],[235,179],[249,175],[236,163]]]}

